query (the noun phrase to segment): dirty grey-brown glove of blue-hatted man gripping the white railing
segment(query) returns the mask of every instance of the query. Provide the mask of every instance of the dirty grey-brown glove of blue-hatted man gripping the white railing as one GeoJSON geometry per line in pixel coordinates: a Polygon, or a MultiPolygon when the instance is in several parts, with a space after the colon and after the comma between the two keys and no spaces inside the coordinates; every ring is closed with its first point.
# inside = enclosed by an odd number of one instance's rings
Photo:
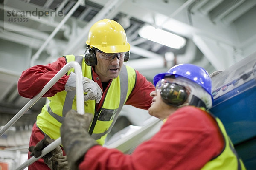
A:
{"type": "Polygon", "coordinates": [[[92,118],[90,113],[81,115],[70,110],[61,125],[61,141],[72,170],[78,170],[79,161],[87,150],[98,144],[88,133],[92,118]]]}

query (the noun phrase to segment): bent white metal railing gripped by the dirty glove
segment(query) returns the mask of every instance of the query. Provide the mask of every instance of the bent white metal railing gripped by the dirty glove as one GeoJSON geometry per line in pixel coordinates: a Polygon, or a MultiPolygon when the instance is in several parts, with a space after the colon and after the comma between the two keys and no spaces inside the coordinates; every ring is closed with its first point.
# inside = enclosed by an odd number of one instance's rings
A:
{"type": "MultiPolygon", "coordinates": [[[[81,66],[78,62],[69,62],[55,74],[54,77],[44,86],[42,91],[33,97],[1,130],[0,136],[9,129],[20,117],[26,113],[58,80],[70,70],[70,68],[74,68],[76,73],[76,109],[79,114],[84,114],[84,93],[83,93],[83,84],[82,84],[82,71],[81,66]]],[[[61,144],[61,137],[56,139],[54,142],[49,144],[47,147],[42,150],[41,156],[35,158],[34,156],[20,165],[16,170],[23,170],[24,168],[28,167],[30,164],[34,163],[56,147],[61,144]]]]}

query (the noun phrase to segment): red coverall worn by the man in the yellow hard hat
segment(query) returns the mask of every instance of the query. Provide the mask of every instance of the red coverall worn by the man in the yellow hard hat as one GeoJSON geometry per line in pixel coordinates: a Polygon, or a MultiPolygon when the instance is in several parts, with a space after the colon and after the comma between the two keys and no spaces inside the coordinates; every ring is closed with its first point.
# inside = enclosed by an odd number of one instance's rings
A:
{"type": "MultiPolygon", "coordinates": [[[[20,96],[26,98],[33,98],[37,95],[49,82],[52,77],[66,64],[65,57],[59,57],[57,61],[52,62],[47,65],[36,65],[33,66],[26,71],[23,71],[20,79],[18,80],[18,91],[20,96]]],[[[93,71],[93,80],[98,83],[98,85],[102,88],[102,83],[100,79],[96,79],[99,77],[93,71]]],[[[65,84],[68,75],[64,75],[61,79],[58,80],[52,88],[47,91],[43,97],[51,97],[56,93],[63,91],[65,89],[65,84]]],[[[103,88],[102,88],[103,90],[103,88]]],[[[126,101],[126,105],[133,105],[134,107],[141,109],[148,109],[151,105],[152,98],[149,96],[151,91],[154,91],[155,87],[151,82],[148,82],[147,79],[136,71],[136,84],[134,86],[133,91],[126,101]]],[[[106,95],[106,90],[103,91],[102,97],[106,95]]],[[[97,109],[101,108],[103,105],[103,101],[97,104],[97,109]]],[[[30,137],[29,146],[35,146],[41,139],[44,138],[44,134],[39,130],[36,125],[33,126],[32,134],[30,137]]],[[[28,153],[30,154],[30,153],[28,153]]],[[[30,156],[28,155],[28,158],[30,156]]],[[[46,164],[44,164],[43,159],[39,159],[34,164],[29,166],[29,170],[47,170],[49,169],[46,164]]]]}

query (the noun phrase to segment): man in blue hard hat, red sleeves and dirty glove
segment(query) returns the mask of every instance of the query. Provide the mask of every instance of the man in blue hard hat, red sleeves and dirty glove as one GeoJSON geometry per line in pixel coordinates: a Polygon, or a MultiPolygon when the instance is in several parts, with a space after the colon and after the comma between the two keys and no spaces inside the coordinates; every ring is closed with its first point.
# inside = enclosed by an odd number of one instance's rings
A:
{"type": "Polygon", "coordinates": [[[164,124],[131,155],[97,144],[86,130],[90,114],[67,113],[61,139],[72,170],[245,170],[220,119],[208,111],[212,85],[204,68],[176,65],[157,74],[154,85],[148,113],[164,124]]]}

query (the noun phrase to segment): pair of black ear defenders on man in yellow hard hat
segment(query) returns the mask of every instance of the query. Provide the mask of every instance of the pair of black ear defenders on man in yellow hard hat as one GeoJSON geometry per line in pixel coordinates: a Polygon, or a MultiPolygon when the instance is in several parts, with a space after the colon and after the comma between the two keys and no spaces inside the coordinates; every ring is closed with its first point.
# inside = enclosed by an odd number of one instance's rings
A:
{"type": "MultiPolygon", "coordinates": [[[[128,59],[130,58],[130,51],[127,51],[125,53],[125,59],[124,62],[128,61],[128,59]]],[[[84,61],[88,66],[94,66],[97,65],[97,57],[96,57],[96,53],[93,50],[93,48],[90,48],[90,46],[88,46],[84,52],[84,61]]]]}

